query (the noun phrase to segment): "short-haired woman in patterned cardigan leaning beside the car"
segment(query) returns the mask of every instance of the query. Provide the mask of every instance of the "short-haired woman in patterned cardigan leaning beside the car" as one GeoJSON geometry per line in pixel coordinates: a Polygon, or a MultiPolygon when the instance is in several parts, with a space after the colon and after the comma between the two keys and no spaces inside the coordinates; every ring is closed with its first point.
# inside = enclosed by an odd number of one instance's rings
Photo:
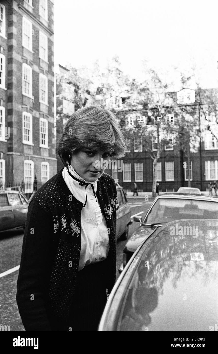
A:
{"type": "Polygon", "coordinates": [[[57,147],[64,167],[34,194],[26,218],[17,281],[26,331],[98,329],[116,279],[117,192],[105,162],[125,150],[109,110],[85,107],[67,121],[57,147]]]}

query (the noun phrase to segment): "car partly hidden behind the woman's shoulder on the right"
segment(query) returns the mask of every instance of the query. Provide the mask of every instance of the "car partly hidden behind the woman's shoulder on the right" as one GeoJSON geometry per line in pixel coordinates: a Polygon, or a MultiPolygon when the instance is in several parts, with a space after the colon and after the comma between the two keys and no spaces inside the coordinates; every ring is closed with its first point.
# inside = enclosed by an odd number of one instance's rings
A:
{"type": "Polygon", "coordinates": [[[117,187],[117,239],[126,240],[129,234],[131,221],[131,210],[124,190],[116,182],[117,187]]]}

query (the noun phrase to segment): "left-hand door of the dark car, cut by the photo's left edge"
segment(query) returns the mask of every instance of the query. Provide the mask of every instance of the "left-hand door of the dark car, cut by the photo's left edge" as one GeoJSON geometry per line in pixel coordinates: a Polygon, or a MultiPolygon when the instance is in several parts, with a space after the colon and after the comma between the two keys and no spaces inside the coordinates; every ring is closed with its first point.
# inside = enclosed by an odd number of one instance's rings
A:
{"type": "Polygon", "coordinates": [[[14,227],[14,211],[9,204],[7,193],[0,193],[0,231],[14,227]]]}

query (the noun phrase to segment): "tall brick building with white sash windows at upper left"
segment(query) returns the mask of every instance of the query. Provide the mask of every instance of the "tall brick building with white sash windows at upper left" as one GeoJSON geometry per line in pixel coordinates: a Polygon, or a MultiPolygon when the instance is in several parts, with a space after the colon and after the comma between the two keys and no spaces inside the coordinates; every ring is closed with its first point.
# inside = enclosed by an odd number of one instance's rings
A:
{"type": "Polygon", "coordinates": [[[57,172],[53,4],[0,0],[0,178],[26,193],[57,172]]]}

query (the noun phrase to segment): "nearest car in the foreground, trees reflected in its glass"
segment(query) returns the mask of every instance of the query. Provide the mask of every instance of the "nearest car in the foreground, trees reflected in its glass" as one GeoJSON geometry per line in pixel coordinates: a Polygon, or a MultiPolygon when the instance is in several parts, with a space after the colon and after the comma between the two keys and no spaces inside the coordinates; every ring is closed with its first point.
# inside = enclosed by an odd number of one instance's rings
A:
{"type": "Polygon", "coordinates": [[[98,331],[214,331],[217,298],[218,220],[173,221],[137,248],[98,331]]]}

